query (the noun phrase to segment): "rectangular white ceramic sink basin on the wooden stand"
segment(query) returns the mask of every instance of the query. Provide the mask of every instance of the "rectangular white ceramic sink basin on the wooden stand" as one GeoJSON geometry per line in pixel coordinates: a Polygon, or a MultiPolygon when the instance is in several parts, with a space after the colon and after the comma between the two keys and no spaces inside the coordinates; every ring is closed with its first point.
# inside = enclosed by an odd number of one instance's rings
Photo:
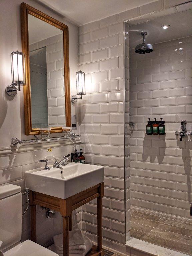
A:
{"type": "Polygon", "coordinates": [[[25,186],[39,193],[66,199],[103,182],[103,178],[103,166],[70,163],[60,168],[38,168],[25,172],[25,186]]]}

